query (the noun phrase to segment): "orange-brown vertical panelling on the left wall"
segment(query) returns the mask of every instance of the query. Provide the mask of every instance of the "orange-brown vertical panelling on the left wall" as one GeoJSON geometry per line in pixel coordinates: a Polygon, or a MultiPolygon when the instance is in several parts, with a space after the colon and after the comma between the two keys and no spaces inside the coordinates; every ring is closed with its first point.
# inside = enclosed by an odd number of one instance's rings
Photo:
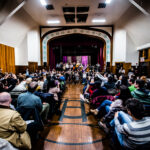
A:
{"type": "Polygon", "coordinates": [[[15,73],[15,50],[13,47],[0,44],[0,68],[3,72],[15,73]]]}

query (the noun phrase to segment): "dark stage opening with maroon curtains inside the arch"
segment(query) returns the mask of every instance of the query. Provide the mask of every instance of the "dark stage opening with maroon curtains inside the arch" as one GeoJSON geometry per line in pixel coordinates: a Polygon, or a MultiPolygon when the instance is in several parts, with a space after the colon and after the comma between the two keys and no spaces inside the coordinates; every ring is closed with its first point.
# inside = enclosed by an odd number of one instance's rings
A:
{"type": "Polygon", "coordinates": [[[104,66],[104,42],[100,39],[73,34],[54,39],[49,42],[49,64],[50,68],[55,68],[57,62],[63,61],[63,56],[72,56],[72,61],[76,62],[76,56],[90,56],[91,65],[104,66]]]}

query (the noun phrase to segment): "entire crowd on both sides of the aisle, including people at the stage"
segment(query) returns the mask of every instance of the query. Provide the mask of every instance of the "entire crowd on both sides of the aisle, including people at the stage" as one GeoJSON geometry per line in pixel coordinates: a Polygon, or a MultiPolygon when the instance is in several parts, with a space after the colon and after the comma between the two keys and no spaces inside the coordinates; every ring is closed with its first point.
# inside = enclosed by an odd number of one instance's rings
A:
{"type": "Polygon", "coordinates": [[[125,149],[150,145],[150,81],[146,76],[135,76],[133,71],[128,76],[100,73],[99,64],[84,68],[77,62],[59,63],[52,71],[27,69],[18,75],[0,69],[0,138],[8,147],[31,149],[38,131],[54,113],[61,113],[67,83],[83,84],[81,100],[90,105],[90,113],[97,116],[113,143],[125,149]]]}

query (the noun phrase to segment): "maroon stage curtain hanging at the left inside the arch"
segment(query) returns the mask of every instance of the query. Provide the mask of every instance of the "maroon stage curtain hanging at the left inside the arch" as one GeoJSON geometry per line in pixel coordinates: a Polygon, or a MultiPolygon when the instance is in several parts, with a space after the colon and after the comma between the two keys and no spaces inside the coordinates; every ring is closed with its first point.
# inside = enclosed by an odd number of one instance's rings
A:
{"type": "Polygon", "coordinates": [[[50,51],[49,51],[49,64],[50,64],[51,70],[56,67],[55,53],[53,52],[53,48],[51,48],[51,47],[50,47],[50,51]]]}

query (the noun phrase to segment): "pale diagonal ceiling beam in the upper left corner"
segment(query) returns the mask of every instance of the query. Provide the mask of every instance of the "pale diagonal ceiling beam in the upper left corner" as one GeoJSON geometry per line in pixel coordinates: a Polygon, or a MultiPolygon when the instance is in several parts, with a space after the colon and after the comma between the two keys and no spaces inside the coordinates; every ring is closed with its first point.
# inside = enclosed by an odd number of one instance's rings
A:
{"type": "Polygon", "coordinates": [[[0,25],[2,25],[3,23],[5,23],[8,19],[10,19],[19,9],[21,9],[24,4],[27,2],[27,0],[23,0],[15,9],[13,9],[7,17],[5,17],[1,22],[0,25]]]}

